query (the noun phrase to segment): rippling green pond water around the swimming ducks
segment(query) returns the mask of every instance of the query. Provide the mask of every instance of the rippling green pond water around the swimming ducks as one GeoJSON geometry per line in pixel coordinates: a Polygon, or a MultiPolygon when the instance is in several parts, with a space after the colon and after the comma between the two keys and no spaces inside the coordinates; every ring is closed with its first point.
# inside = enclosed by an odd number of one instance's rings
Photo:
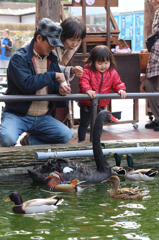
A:
{"type": "Polygon", "coordinates": [[[4,202],[11,192],[19,192],[23,201],[55,193],[28,176],[0,178],[0,239],[159,239],[159,174],[151,182],[120,179],[121,187],[143,189],[145,197],[114,199],[108,195],[110,184],[95,183],[79,193],[58,193],[65,201],[56,211],[15,214],[14,203],[4,202]]]}

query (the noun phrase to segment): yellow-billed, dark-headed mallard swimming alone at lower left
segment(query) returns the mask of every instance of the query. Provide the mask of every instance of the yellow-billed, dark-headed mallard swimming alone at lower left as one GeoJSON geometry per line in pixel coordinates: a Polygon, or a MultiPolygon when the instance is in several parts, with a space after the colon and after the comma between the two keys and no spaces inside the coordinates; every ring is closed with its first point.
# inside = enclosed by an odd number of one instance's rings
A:
{"type": "Polygon", "coordinates": [[[13,201],[15,203],[12,208],[15,213],[35,213],[53,211],[57,209],[57,205],[61,204],[64,200],[52,196],[50,198],[36,198],[23,203],[22,197],[19,193],[13,192],[5,200],[5,202],[13,201]]]}

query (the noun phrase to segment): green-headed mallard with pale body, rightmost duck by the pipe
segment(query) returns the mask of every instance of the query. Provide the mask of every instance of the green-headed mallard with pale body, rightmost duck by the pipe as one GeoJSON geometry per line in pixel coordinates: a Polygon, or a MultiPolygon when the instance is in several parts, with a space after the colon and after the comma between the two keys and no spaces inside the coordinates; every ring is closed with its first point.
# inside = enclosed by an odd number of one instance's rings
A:
{"type": "Polygon", "coordinates": [[[134,170],[133,156],[131,154],[123,156],[126,157],[128,163],[128,169],[125,175],[126,178],[137,181],[152,181],[154,179],[154,176],[158,173],[158,171],[153,168],[134,170]]]}

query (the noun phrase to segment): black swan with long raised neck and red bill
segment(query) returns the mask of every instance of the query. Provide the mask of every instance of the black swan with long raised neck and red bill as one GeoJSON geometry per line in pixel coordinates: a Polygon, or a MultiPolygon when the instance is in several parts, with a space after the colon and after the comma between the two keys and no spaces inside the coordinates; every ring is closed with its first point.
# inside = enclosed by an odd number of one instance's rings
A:
{"type": "Polygon", "coordinates": [[[112,115],[109,111],[101,111],[95,120],[93,128],[93,153],[96,162],[96,170],[90,169],[83,163],[57,158],[48,160],[45,164],[28,169],[28,173],[33,181],[46,183],[46,177],[53,171],[58,171],[66,181],[71,181],[77,178],[79,181],[97,182],[107,179],[111,176],[111,168],[106,161],[100,143],[103,122],[110,122],[112,115]],[[65,167],[71,168],[70,172],[64,173],[65,167]]]}

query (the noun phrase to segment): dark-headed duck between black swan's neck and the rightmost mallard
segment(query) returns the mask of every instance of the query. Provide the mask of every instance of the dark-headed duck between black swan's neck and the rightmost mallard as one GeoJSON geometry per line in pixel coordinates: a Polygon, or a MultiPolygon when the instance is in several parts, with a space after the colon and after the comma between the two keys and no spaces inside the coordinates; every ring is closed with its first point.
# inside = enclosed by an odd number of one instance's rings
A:
{"type": "Polygon", "coordinates": [[[115,158],[115,163],[116,163],[116,165],[111,167],[112,174],[115,174],[115,175],[118,175],[118,176],[125,175],[126,170],[123,167],[120,167],[121,155],[118,154],[118,153],[113,153],[113,152],[110,152],[110,155],[112,155],[115,158]]]}

